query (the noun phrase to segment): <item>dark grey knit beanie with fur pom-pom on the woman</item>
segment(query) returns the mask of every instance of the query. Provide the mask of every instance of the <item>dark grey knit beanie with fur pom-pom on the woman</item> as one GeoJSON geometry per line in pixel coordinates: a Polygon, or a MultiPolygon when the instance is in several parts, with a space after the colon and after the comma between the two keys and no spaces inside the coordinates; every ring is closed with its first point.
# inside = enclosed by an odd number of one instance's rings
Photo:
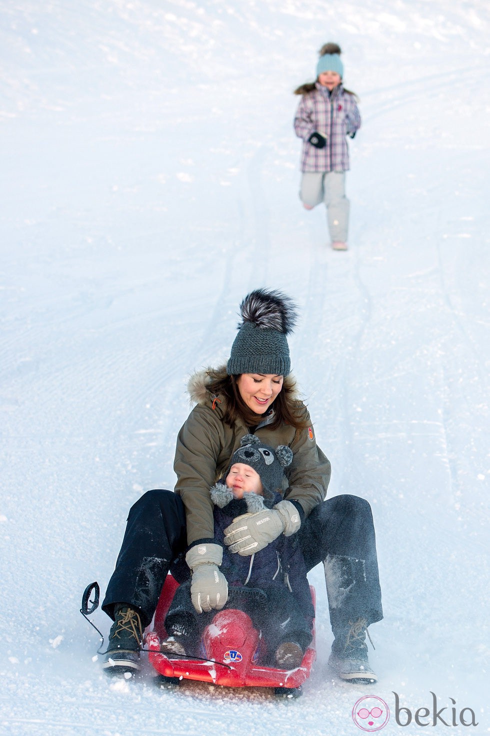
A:
{"type": "Polygon", "coordinates": [[[286,336],[297,321],[297,308],[280,291],[255,289],[240,305],[242,321],[232,344],[228,375],[288,375],[291,358],[286,336]]]}

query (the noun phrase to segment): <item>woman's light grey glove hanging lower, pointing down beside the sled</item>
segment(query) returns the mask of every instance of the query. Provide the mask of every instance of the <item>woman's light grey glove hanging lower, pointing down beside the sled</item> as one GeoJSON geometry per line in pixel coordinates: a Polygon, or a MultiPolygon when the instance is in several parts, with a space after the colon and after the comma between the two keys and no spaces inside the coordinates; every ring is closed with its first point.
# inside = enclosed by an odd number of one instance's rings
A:
{"type": "Polygon", "coordinates": [[[185,562],[192,570],[191,600],[196,611],[221,611],[228,600],[227,578],[218,569],[223,562],[221,545],[195,545],[185,555],[185,562]]]}

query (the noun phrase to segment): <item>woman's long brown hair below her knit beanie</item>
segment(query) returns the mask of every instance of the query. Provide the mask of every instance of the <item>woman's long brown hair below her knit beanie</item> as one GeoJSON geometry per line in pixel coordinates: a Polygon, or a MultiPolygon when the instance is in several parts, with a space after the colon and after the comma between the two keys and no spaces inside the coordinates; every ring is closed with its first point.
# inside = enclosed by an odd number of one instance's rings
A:
{"type": "MultiPolygon", "coordinates": [[[[250,428],[257,426],[263,420],[263,415],[255,414],[255,411],[249,409],[242,399],[238,389],[238,375],[227,375],[221,370],[214,369],[208,369],[207,375],[211,379],[210,383],[207,384],[208,391],[216,397],[221,395],[226,399],[226,406],[223,407],[223,421],[227,425],[232,427],[238,417],[244,420],[246,426],[250,428]]],[[[294,378],[285,376],[283,387],[272,405],[275,416],[274,421],[269,425],[271,429],[277,429],[283,423],[291,425],[295,429],[308,428],[308,424],[305,424],[299,418],[299,410],[302,404],[296,398],[295,389],[296,382],[294,378]]]]}

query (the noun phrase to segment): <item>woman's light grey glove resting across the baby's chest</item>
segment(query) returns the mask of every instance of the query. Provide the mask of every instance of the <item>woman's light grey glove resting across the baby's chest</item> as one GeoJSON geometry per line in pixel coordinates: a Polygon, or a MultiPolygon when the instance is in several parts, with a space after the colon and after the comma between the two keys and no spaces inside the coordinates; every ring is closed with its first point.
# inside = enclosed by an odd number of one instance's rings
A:
{"type": "Polygon", "coordinates": [[[260,552],[280,534],[291,537],[301,526],[299,512],[291,501],[280,501],[274,509],[264,509],[258,514],[243,514],[224,530],[224,544],[230,552],[251,555],[260,552]]]}

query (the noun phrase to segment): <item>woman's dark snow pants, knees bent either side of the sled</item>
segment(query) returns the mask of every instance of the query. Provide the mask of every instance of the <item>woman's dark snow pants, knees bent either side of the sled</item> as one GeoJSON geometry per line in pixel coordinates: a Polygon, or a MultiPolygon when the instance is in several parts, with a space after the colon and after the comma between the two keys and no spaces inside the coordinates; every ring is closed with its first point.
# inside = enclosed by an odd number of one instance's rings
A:
{"type": "MultiPolygon", "coordinates": [[[[374,523],[369,503],[339,495],[319,503],[306,518],[299,540],[307,570],[323,562],[333,628],[358,618],[368,625],[383,618],[374,523]]],[[[168,570],[178,582],[190,576],[185,509],[171,491],[144,493],[129,509],[127,527],[107,585],[102,608],[114,618],[114,605],[127,603],[151,622],[168,570]]]]}

